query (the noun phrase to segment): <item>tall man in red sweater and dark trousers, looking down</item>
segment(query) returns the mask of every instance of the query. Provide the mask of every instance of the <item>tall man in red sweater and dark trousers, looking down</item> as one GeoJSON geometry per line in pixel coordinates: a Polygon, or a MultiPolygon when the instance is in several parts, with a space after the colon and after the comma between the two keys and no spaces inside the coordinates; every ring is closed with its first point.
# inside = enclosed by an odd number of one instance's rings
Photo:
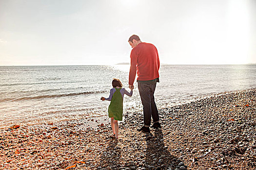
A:
{"type": "Polygon", "coordinates": [[[129,73],[129,88],[138,74],[138,91],[143,105],[144,126],[138,131],[150,132],[151,116],[154,124],[152,128],[161,128],[159,123],[158,108],[154,92],[159,82],[159,57],[158,50],[153,44],[141,42],[138,35],[132,35],[128,42],[132,46],[131,68],[129,73]]]}

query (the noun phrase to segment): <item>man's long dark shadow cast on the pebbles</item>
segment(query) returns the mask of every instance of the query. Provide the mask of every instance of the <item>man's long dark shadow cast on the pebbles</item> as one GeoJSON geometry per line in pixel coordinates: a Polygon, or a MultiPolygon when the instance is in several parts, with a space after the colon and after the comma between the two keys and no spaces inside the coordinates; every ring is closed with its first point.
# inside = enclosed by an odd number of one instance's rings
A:
{"type": "Polygon", "coordinates": [[[147,153],[144,167],[153,170],[174,170],[178,166],[177,158],[164,145],[161,129],[156,129],[147,137],[147,153]]]}

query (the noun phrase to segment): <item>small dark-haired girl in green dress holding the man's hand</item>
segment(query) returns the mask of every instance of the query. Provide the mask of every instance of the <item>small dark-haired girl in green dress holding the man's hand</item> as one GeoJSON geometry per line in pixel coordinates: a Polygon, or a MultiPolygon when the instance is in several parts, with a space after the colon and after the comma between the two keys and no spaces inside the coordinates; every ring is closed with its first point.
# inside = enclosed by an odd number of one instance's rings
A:
{"type": "Polygon", "coordinates": [[[132,86],[131,92],[129,93],[125,88],[122,88],[122,83],[119,79],[113,79],[112,81],[113,88],[110,90],[110,95],[108,98],[101,97],[102,101],[111,101],[108,106],[108,117],[111,118],[111,127],[114,133],[114,137],[118,139],[118,120],[122,120],[123,118],[123,96],[126,94],[127,96],[133,95],[132,86]]]}

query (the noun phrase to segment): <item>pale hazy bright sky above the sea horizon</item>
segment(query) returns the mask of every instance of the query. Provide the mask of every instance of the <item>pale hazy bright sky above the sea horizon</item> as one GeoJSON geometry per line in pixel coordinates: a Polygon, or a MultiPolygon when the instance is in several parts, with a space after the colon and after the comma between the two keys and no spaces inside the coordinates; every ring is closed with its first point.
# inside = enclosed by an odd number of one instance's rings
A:
{"type": "Polygon", "coordinates": [[[256,0],[0,0],[0,66],[256,63],[256,0]]]}

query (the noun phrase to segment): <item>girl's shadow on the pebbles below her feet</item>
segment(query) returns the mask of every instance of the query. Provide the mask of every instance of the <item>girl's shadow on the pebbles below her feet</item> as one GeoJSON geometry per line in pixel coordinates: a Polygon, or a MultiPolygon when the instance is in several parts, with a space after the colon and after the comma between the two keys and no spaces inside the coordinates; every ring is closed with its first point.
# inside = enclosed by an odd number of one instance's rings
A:
{"type": "Polygon", "coordinates": [[[100,156],[100,162],[99,166],[102,167],[102,169],[110,168],[112,170],[118,169],[120,163],[120,157],[121,157],[121,151],[120,148],[117,147],[118,140],[110,139],[108,140],[108,144],[104,151],[102,152],[100,156]]]}

